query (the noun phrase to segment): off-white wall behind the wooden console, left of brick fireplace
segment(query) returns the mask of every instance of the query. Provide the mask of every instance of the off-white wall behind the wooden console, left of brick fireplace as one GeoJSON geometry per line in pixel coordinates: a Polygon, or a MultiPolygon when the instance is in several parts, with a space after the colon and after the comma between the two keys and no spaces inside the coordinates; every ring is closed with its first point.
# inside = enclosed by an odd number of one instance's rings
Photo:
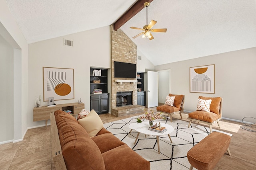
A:
{"type": "MultiPolygon", "coordinates": [[[[81,98],[90,110],[90,66],[110,68],[110,49],[110,26],[29,44],[28,127],[45,124],[33,122],[34,102],[43,96],[43,67],[74,68],[74,100],[54,102],[73,103],[81,98]],[[72,40],[73,47],[65,46],[64,39],[72,40]]],[[[41,101],[42,106],[47,103],[41,101]]]]}

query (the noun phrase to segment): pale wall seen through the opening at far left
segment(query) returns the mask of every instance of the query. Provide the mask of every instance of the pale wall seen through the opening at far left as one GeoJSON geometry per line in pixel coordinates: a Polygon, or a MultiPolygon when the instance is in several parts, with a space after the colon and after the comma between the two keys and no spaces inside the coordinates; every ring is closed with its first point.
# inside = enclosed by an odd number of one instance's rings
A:
{"type": "Polygon", "coordinates": [[[0,142],[10,141],[14,137],[13,86],[14,63],[13,48],[0,36],[0,142]]]}

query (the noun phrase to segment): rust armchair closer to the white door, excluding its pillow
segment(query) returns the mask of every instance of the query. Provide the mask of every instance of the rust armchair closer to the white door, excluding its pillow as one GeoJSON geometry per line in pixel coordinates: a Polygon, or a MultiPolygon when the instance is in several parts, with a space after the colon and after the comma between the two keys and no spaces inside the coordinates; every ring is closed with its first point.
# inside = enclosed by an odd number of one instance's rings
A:
{"type": "Polygon", "coordinates": [[[181,111],[183,111],[184,109],[185,96],[182,94],[181,95],[169,94],[169,96],[175,96],[173,106],[169,106],[169,105],[158,106],[156,107],[156,111],[160,111],[168,114],[168,116],[170,117],[170,121],[172,122],[172,115],[175,113],[180,113],[180,117],[182,118],[181,111]]]}

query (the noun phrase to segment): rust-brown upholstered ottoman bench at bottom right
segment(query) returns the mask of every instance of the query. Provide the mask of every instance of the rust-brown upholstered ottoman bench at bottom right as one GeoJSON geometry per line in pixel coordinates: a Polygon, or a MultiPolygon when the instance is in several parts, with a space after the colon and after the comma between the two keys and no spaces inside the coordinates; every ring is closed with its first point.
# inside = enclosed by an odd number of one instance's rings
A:
{"type": "Polygon", "coordinates": [[[188,151],[188,162],[191,164],[190,170],[193,167],[198,170],[211,170],[214,168],[226,150],[231,155],[228,148],[230,140],[230,135],[220,132],[210,133],[188,151]]]}

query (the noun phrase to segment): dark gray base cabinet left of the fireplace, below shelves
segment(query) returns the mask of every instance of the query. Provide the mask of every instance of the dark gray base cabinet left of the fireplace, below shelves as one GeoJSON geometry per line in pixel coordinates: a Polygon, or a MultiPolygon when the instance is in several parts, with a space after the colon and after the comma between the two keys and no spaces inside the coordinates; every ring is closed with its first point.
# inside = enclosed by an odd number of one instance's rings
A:
{"type": "Polygon", "coordinates": [[[98,114],[109,112],[109,93],[91,94],[91,110],[98,114]]]}

